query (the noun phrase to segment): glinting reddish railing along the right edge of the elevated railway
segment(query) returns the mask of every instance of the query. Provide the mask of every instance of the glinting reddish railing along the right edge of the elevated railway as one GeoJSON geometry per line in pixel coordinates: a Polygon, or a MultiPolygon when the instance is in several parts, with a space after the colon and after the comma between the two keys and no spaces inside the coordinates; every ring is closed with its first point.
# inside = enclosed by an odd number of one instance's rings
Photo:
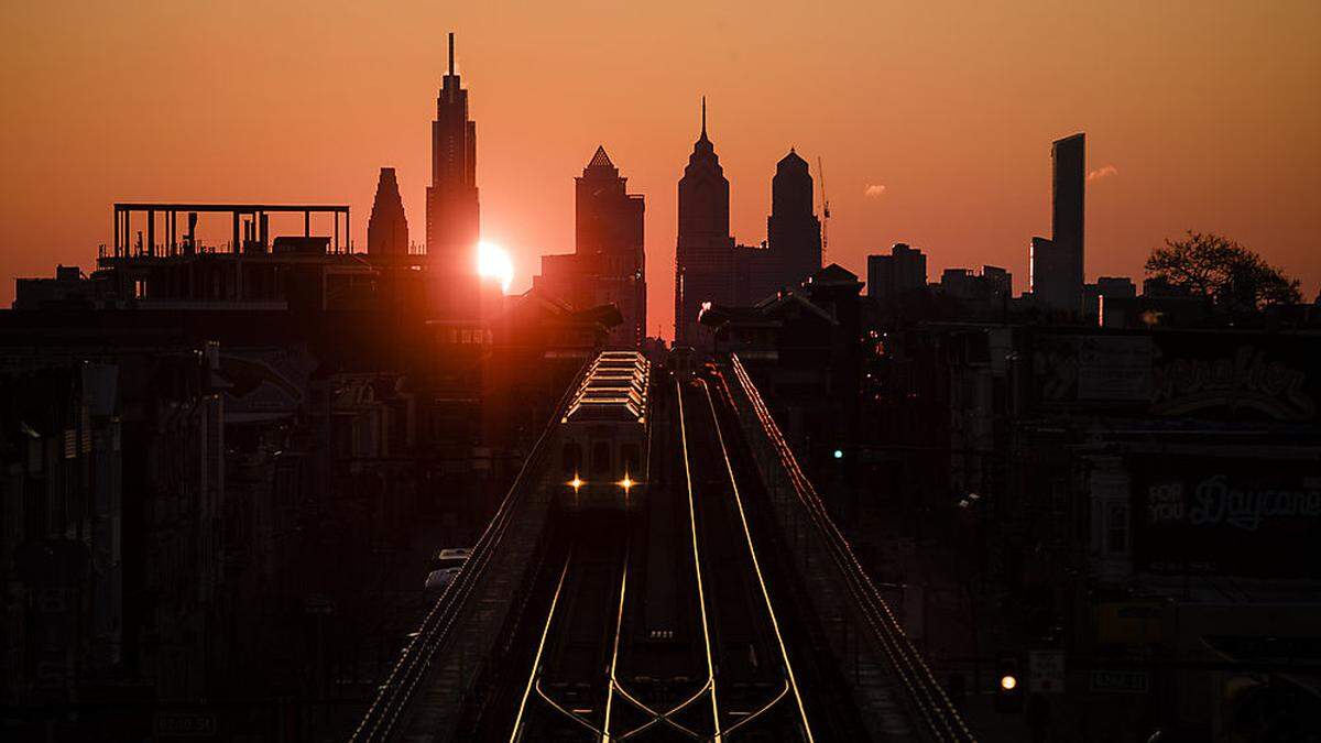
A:
{"type": "MultiPolygon", "coordinates": [[[[880,591],[857,559],[848,539],[844,538],[839,526],[826,512],[824,502],[799,467],[789,442],[781,434],[774,416],[770,414],[770,409],[766,406],[737,354],[731,354],[731,366],[742,389],[744,397],[749,401],[757,415],[768,442],[774,447],[781,464],[789,475],[798,500],[806,506],[812,522],[824,537],[831,559],[845,578],[849,592],[863,609],[861,613],[868,625],[871,625],[873,635],[880,640],[881,648],[908,693],[910,702],[922,715],[927,732],[938,740],[975,740],[963,717],[950,702],[945,689],[935,681],[931,669],[904,632],[889,604],[881,598],[880,591]]],[[[720,379],[728,395],[728,385],[724,377],[720,375],[720,379]]],[[[733,402],[732,397],[729,399],[733,402]]]]}

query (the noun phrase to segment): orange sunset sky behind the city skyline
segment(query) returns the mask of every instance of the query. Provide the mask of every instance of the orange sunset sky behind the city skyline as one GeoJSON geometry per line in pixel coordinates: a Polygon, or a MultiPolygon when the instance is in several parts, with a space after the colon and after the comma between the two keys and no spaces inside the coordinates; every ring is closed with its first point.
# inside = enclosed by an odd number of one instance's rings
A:
{"type": "Polygon", "coordinates": [[[1152,246],[1196,229],[1259,250],[1308,300],[1321,284],[1316,0],[7,1],[0,28],[5,304],[12,276],[87,270],[116,200],[346,202],[365,250],[392,165],[421,242],[448,30],[513,291],[572,251],[572,178],[604,144],[646,196],[651,332],[671,334],[703,94],[742,243],[765,238],[793,145],[814,176],[824,161],[827,262],[865,278],[868,253],[909,242],[933,279],[1005,266],[1017,293],[1050,233],[1050,141],[1085,131],[1089,280],[1140,279],[1152,246]]]}

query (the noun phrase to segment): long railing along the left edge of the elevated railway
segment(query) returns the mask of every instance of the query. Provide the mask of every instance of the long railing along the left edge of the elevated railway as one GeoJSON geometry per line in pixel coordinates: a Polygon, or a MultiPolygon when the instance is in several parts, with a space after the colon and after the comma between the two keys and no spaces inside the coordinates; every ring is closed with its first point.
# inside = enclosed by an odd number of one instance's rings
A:
{"type": "Polygon", "coordinates": [[[436,603],[432,604],[417,633],[390,669],[390,676],[386,677],[386,682],[380,685],[376,698],[373,699],[366,714],[359,721],[358,727],[349,739],[350,743],[384,742],[394,734],[395,726],[399,723],[408,702],[412,701],[417,685],[431,668],[432,656],[449,637],[450,629],[462,612],[469,595],[481,583],[487,565],[498,551],[498,546],[513,522],[514,512],[523,500],[523,492],[528,487],[526,479],[531,472],[540,469],[547,456],[547,442],[556,430],[568,401],[581,383],[589,366],[590,364],[584,364],[564,390],[564,395],[560,397],[559,403],[555,406],[550,422],[519,468],[514,484],[505,493],[505,498],[497,508],[495,516],[486,524],[486,529],[478,537],[462,570],[458,571],[458,575],[454,576],[436,599],[436,603]]]}

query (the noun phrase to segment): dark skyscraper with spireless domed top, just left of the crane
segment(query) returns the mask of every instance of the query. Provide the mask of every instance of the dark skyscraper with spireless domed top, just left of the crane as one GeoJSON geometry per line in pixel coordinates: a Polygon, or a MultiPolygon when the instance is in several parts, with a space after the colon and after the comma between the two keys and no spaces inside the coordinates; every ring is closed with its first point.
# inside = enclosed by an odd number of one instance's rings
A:
{"type": "Polygon", "coordinates": [[[822,268],[822,223],[812,213],[812,176],[793,148],[775,165],[766,218],[770,258],[781,286],[794,286],[822,268]]]}

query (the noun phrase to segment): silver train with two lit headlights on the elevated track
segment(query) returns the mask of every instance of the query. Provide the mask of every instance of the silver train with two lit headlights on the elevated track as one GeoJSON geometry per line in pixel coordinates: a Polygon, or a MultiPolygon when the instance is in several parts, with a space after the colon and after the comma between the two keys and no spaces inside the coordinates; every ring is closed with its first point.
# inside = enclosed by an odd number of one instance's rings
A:
{"type": "Polygon", "coordinates": [[[560,505],[635,510],[647,492],[651,362],[635,350],[592,360],[559,427],[560,505]]]}

